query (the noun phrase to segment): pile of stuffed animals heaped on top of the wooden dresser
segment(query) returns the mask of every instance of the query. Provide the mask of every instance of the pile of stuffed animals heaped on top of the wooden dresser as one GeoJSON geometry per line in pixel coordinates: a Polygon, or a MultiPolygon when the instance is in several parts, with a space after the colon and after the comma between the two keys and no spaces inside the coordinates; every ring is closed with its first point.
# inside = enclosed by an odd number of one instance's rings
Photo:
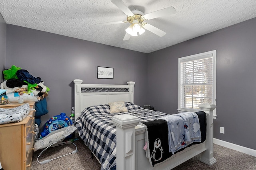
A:
{"type": "Polygon", "coordinates": [[[11,103],[17,103],[18,98],[15,97],[20,96],[24,102],[37,102],[48,96],[50,89],[44,86],[40,77],[32,76],[27,70],[12,65],[3,74],[5,81],[0,84],[0,88],[7,90],[6,95],[11,103]]]}

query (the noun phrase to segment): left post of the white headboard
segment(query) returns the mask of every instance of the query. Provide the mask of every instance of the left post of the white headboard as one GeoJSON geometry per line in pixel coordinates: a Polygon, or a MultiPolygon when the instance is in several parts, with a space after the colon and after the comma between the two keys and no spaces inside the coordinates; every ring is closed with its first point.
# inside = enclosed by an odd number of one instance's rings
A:
{"type": "Polygon", "coordinates": [[[74,82],[74,104],[75,104],[75,120],[79,117],[80,112],[80,97],[81,97],[81,84],[83,80],[75,79],[74,82]]]}

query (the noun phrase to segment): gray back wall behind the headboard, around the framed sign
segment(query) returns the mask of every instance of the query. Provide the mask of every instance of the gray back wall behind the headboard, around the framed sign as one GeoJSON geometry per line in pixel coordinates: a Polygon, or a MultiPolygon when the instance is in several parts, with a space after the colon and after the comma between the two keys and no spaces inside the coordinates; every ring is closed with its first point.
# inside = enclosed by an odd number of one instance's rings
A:
{"type": "Polygon", "coordinates": [[[7,24],[6,56],[6,68],[16,65],[26,69],[50,88],[46,98],[49,113],[42,116],[42,124],[61,112],[70,115],[74,104],[72,80],[76,78],[87,84],[134,81],[134,102],[146,104],[145,53],[7,24]],[[97,79],[97,66],[113,67],[114,79],[97,79]]]}

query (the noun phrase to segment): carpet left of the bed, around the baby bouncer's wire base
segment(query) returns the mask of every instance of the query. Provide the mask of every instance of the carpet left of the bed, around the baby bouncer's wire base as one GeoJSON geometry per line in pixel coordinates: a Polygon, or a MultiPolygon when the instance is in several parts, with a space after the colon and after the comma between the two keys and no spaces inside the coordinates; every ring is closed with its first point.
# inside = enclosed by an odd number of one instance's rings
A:
{"type": "MultiPolygon", "coordinates": [[[[100,163],[96,158],[91,159],[91,152],[80,139],[74,142],[78,152],[52,160],[46,164],[37,162],[37,157],[42,150],[33,153],[31,170],[100,170],[100,163]]],[[[42,162],[46,159],[56,158],[75,150],[73,144],[61,145],[47,149],[40,157],[42,162]]]]}

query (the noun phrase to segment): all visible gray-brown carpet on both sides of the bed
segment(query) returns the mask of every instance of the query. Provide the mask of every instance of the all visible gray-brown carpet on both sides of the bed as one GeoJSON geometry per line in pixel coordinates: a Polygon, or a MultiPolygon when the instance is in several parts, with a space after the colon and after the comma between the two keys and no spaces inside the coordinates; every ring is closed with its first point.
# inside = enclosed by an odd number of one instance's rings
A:
{"type": "MultiPolygon", "coordinates": [[[[52,160],[46,164],[39,164],[37,156],[41,150],[34,152],[32,170],[100,170],[100,164],[96,158],[91,159],[90,150],[82,140],[74,142],[78,152],[62,158],[52,160]]],[[[40,157],[39,161],[52,159],[62,154],[72,152],[75,146],[72,144],[49,148],[40,157]]],[[[256,170],[256,157],[238,152],[232,149],[214,144],[214,157],[216,164],[208,166],[199,161],[200,154],[177,166],[173,170],[256,170]]]]}

